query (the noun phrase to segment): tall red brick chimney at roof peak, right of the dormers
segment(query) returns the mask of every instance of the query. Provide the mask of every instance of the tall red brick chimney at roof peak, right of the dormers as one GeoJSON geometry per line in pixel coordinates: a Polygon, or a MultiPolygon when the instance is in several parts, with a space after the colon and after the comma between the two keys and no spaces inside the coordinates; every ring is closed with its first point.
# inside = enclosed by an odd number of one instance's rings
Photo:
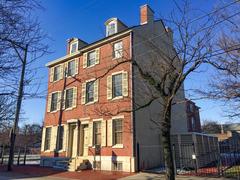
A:
{"type": "Polygon", "coordinates": [[[140,24],[147,24],[154,21],[154,11],[147,5],[140,7],[140,24]]]}

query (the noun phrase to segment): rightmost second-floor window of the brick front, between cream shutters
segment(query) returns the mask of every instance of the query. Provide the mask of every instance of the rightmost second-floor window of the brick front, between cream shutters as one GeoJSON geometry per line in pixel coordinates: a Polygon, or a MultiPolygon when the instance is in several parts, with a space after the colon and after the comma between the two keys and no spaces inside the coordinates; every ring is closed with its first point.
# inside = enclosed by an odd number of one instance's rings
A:
{"type": "Polygon", "coordinates": [[[122,96],[122,74],[112,76],[112,95],[113,98],[122,96]]]}

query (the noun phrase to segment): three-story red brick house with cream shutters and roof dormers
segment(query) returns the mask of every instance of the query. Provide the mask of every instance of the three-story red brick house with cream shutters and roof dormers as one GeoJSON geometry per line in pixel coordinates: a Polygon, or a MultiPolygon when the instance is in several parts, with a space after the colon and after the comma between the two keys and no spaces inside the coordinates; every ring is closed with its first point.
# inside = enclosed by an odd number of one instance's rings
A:
{"type": "MultiPolygon", "coordinates": [[[[111,18],[105,26],[106,37],[91,44],[69,39],[67,55],[46,65],[42,166],[135,172],[140,163],[147,168],[159,165],[160,132],[150,119],[161,118],[161,106],[154,101],[133,111],[148,95],[131,59],[144,65],[154,59],[146,38],[156,40],[164,51],[172,49],[167,47],[173,47],[172,31],[154,20],[148,5],[140,7],[140,25],[127,27],[111,18]],[[157,148],[139,152],[137,144],[157,148]]],[[[185,99],[183,88],[177,98],[185,99]]],[[[185,104],[175,105],[172,114],[171,131],[187,132],[185,104]]]]}

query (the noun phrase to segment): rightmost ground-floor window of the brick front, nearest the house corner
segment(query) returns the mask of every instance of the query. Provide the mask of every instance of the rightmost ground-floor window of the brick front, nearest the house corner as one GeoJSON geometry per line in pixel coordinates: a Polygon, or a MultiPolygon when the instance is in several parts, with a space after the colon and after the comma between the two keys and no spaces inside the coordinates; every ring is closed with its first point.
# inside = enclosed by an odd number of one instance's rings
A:
{"type": "Polygon", "coordinates": [[[122,119],[113,120],[113,145],[122,144],[122,119]]]}

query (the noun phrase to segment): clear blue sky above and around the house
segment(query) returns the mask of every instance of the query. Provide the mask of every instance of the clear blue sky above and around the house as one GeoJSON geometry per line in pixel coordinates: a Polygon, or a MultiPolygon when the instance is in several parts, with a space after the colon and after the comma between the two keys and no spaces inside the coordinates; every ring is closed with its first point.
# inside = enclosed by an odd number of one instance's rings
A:
{"type": "MultiPolygon", "coordinates": [[[[198,7],[208,10],[214,1],[194,1],[198,7]]],[[[139,24],[139,7],[149,4],[155,11],[155,18],[167,15],[174,4],[170,0],[45,0],[42,1],[43,11],[35,12],[36,16],[51,40],[47,41],[53,53],[39,59],[36,67],[41,67],[36,78],[41,83],[40,92],[46,95],[47,90],[47,68],[45,64],[66,54],[66,40],[71,37],[93,42],[104,37],[104,22],[111,17],[118,17],[126,25],[139,24]],[[40,81],[41,79],[41,81],[40,81]]],[[[209,71],[209,70],[208,70],[209,71]]],[[[209,73],[193,74],[185,82],[185,88],[199,88],[206,86],[209,73]]],[[[197,105],[201,107],[201,119],[212,119],[220,122],[226,121],[223,117],[222,108],[219,103],[198,100],[197,105]]],[[[25,100],[23,103],[24,123],[41,123],[44,119],[46,101],[45,99],[25,100]]]]}

